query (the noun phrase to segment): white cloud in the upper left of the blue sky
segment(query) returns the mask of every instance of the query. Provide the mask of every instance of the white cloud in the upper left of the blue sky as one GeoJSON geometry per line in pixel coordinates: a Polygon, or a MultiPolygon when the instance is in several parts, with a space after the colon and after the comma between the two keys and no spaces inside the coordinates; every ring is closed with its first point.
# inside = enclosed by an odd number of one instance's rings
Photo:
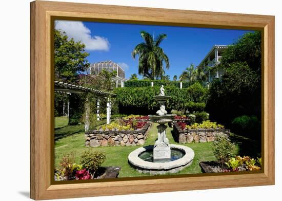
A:
{"type": "Polygon", "coordinates": [[[82,22],[78,21],[56,21],[55,29],[62,29],[70,38],[75,41],[82,41],[87,50],[105,50],[110,49],[110,43],[107,38],[94,35],[91,36],[91,31],[82,22]]]}

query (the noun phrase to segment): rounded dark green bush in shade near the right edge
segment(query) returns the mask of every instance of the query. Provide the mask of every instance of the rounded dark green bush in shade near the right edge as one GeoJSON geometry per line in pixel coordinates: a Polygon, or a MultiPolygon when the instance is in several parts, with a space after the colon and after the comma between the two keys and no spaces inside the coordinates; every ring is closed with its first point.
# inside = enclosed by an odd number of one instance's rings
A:
{"type": "Polygon", "coordinates": [[[256,139],[259,137],[260,123],[256,116],[243,115],[232,121],[231,130],[236,134],[256,139]]]}

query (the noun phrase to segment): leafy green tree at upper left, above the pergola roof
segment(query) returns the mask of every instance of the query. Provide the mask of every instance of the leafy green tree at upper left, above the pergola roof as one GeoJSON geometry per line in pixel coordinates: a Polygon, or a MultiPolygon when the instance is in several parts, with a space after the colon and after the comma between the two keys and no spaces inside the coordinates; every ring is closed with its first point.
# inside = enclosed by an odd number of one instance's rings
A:
{"type": "Polygon", "coordinates": [[[55,30],[55,79],[73,82],[77,72],[85,71],[90,63],[85,44],[69,39],[66,32],[55,30]]]}

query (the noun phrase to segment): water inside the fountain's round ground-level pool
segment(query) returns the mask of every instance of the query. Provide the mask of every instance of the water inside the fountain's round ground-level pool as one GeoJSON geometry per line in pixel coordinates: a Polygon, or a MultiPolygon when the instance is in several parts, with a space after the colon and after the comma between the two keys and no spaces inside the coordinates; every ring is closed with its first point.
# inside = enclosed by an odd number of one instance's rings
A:
{"type": "Polygon", "coordinates": [[[153,150],[145,151],[141,154],[139,154],[139,158],[142,160],[148,161],[148,162],[169,162],[174,161],[179,158],[182,158],[185,155],[185,153],[182,150],[179,149],[171,149],[171,155],[168,159],[153,159],[153,150]]]}

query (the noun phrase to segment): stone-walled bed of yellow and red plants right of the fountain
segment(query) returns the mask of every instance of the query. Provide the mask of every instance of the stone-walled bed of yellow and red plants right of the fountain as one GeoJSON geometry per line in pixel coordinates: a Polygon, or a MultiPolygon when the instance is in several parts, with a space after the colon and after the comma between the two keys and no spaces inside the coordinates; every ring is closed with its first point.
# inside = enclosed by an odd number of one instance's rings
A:
{"type": "Polygon", "coordinates": [[[221,125],[218,125],[218,127],[205,127],[205,124],[213,125],[213,123],[214,122],[209,121],[192,125],[187,125],[185,122],[173,123],[174,135],[179,143],[211,142],[214,140],[214,136],[218,134],[226,134],[229,136],[230,130],[224,129],[221,125]]]}

